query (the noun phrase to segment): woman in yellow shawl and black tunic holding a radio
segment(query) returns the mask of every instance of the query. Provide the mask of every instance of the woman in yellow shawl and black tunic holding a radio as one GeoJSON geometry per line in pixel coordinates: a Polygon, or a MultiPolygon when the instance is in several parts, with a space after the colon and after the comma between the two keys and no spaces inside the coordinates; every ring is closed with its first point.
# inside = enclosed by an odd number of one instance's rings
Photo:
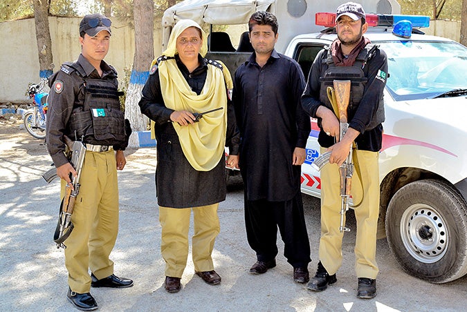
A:
{"type": "Polygon", "coordinates": [[[228,99],[230,73],[221,62],[203,58],[207,50],[201,27],[188,19],[178,21],[167,50],[153,61],[139,103],[154,121],[161,253],[165,289],[171,293],[181,289],[191,211],[195,273],[208,284],[221,282],[211,254],[220,231],[217,207],[226,199],[224,146],[230,151],[229,166],[237,166],[239,133],[228,99]],[[216,108],[195,119],[196,113],[216,108]]]}

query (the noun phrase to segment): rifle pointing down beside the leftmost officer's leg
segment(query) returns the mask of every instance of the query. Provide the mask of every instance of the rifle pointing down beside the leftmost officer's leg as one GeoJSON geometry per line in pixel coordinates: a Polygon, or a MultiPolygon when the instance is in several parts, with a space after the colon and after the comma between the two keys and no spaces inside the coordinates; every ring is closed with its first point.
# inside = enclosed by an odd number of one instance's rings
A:
{"type": "MultiPolygon", "coordinates": [[[[55,228],[55,233],[53,235],[53,240],[57,244],[57,248],[66,248],[63,243],[68,236],[70,236],[71,231],[73,231],[73,223],[71,223],[71,215],[73,214],[73,209],[75,207],[75,199],[80,193],[80,177],[82,166],[84,162],[84,155],[86,155],[86,146],[80,141],[72,141],[69,137],[64,135],[64,140],[66,146],[68,146],[69,154],[68,159],[70,159],[71,165],[76,170],[76,176],[71,176],[71,184],[73,189],[67,184],[65,196],[62,199],[62,203],[59,208],[59,219],[57,223],[57,228],[55,228]]],[[[42,175],[47,183],[50,183],[55,177],[57,177],[57,169],[53,168],[48,170],[44,175],[42,175]]]]}

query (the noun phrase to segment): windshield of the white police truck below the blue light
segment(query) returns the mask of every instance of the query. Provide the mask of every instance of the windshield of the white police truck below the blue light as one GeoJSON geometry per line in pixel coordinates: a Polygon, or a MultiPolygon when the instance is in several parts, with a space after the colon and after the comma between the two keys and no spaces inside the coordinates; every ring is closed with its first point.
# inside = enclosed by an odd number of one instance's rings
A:
{"type": "MultiPolygon", "coordinates": [[[[467,48],[446,41],[383,41],[387,90],[396,101],[426,99],[467,88],[467,48]]],[[[456,96],[455,92],[451,93],[456,96]]]]}

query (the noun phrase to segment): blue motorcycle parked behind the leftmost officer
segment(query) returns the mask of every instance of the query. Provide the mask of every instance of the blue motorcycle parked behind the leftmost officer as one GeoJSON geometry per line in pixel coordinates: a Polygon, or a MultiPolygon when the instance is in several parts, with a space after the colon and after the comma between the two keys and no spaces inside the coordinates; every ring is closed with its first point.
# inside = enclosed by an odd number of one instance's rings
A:
{"type": "Polygon", "coordinates": [[[28,97],[33,99],[34,106],[24,113],[24,127],[36,139],[45,139],[46,137],[46,113],[48,108],[48,92],[44,92],[46,86],[46,80],[28,86],[28,97]]]}

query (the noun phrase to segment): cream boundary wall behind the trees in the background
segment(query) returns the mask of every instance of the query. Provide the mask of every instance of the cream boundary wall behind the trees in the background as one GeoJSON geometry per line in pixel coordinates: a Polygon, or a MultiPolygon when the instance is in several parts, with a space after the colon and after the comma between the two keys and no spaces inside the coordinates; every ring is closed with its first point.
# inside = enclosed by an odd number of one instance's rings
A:
{"type": "MultiPolygon", "coordinates": [[[[73,61],[80,54],[78,28],[81,18],[50,17],[54,71],[60,64],[73,61]]],[[[161,55],[161,23],[154,21],[154,55],[161,55]]],[[[460,22],[431,21],[428,35],[459,41],[460,22]]],[[[28,84],[39,82],[39,59],[34,19],[0,23],[0,103],[30,101],[26,97],[28,84]]],[[[125,75],[123,68],[133,64],[134,29],[116,18],[112,19],[112,37],[106,61],[125,75]]],[[[147,64],[149,68],[150,64],[147,64]]]]}

